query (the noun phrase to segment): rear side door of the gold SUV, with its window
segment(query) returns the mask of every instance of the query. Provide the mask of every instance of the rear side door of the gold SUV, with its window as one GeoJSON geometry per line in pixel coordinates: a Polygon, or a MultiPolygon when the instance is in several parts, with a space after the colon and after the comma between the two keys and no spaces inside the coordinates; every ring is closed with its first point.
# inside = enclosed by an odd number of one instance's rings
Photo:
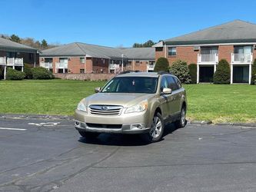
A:
{"type": "Polygon", "coordinates": [[[171,88],[171,107],[170,114],[171,116],[178,115],[180,113],[180,105],[181,105],[181,92],[178,88],[178,84],[175,81],[175,78],[171,75],[168,75],[168,88],[171,88]]]}

